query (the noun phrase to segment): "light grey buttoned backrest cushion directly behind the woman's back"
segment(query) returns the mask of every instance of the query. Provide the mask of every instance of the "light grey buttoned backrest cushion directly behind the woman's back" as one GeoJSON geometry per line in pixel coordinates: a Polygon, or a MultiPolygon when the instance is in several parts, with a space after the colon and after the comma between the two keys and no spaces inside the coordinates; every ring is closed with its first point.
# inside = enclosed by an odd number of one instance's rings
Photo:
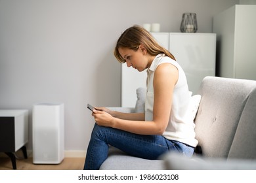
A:
{"type": "MultiPolygon", "coordinates": [[[[203,79],[195,131],[204,156],[228,158],[240,116],[255,86],[253,80],[213,76],[203,79]]],[[[246,136],[244,134],[244,138],[246,136]]]]}

